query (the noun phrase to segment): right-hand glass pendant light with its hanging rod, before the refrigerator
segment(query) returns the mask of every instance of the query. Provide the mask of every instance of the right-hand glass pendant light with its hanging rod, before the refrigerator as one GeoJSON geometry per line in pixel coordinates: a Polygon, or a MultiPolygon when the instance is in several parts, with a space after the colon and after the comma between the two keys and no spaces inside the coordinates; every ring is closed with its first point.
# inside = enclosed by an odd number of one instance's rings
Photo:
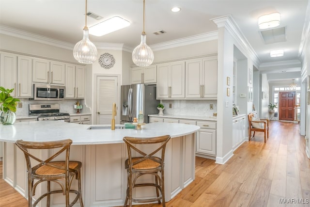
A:
{"type": "Polygon", "coordinates": [[[152,49],[146,45],[146,33],[144,32],[145,0],[143,0],[143,32],[141,33],[141,43],[132,52],[132,61],[137,66],[149,66],[154,61],[152,49]]]}

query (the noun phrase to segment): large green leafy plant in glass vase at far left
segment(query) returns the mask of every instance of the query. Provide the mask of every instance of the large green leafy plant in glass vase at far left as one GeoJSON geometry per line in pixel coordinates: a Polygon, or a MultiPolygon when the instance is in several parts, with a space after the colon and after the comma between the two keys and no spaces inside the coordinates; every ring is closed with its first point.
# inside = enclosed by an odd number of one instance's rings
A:
{"type": "Polygon", "coordinates": [[[0,86],[0,111],[7,112],[13,111],[16,112],[17,101],[20,101],[18,98],[13,98],[10,93],[14,91],[13,89],[5,89],[0,86]]]}

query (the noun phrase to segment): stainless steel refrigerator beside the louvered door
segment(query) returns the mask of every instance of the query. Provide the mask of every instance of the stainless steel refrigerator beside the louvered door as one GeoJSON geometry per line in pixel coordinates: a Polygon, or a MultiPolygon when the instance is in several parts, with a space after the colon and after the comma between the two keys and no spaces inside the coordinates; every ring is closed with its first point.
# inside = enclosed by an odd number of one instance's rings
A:
{"type": "Polygon", "coordinates": [[[142,111],[144,123],[149,123],[148,114],[158,113],[156,85],[133,84],[121,86],[121,123],[133,122],[142,111]]]}

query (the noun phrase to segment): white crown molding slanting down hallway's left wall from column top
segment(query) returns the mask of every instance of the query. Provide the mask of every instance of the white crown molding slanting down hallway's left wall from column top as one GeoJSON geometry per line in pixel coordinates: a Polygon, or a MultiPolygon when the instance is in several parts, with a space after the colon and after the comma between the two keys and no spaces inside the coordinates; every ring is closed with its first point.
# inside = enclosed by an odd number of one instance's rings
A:
{"type": "Polygon", "coordinates": [[[231,15],[219,16],[210,20],[217,24],[217,28],[225,27],[230,32],[230,34],[233,36],[233,39],[237,41],[237,43],[242,47],[242,49],[248,53],[251,60],[253,61],[253,64],[256,67],[261,64],[261,60],[259,59],[255,50],[249,44],[247,38],[241,32],[239,26],[236,24],[231,15]]]}

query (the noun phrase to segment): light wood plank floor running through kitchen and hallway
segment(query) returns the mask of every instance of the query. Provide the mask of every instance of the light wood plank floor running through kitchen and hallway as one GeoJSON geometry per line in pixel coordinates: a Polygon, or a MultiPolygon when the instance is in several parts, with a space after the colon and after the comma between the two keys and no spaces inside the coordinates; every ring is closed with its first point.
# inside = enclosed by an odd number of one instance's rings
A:
{"type": "MultiPolygon", "coordinates": [[[[2,178],[2,162],[0,162],[2,178]]],[[[299,125],[271,121],[263,133],[243,143],[224,165],[196,157],[196,179],[167,207],[309,207],[310,159],[299,125]],[[287,204],[279,204],[286,198],[287,204]],[[290,199],[290,200],[289,200],[290,199]],[[292,199],[299,200],[296,204],[292,199]]],[[[27,206],[25,198],[0,179],[0,207],[27,206]]],[[[161,205],[138,205],[136,207],[161,205]]]]}

